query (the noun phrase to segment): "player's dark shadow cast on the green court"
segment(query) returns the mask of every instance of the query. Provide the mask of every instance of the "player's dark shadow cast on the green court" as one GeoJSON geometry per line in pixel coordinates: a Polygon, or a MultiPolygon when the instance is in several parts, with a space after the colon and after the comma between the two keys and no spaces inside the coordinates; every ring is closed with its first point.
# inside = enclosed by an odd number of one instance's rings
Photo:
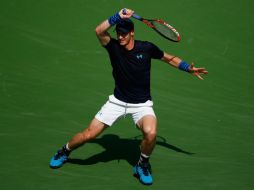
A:
{"type": "MultiPolygon", "coordinates": [[[[101,138],[95,139],[89,143],[96,143],[102,146],[105,150],[99,154],[95,154],[86,159],[69,158],[68,163],[79,165],[92,165],[98,162],[109,162],[113,160],[126,160],[130,165],[134,166],[137,163],[140,155],[139,145],[142,136],[136,136],[131,139],[122,139],[117,135],[107,134],[101,138]]],[[[192,155],[195,153],[187,152],[168,144],[165,138],[157,136],[156,146],[162,146],[170,150],[174,150],[186,155],[192,155]]]]}

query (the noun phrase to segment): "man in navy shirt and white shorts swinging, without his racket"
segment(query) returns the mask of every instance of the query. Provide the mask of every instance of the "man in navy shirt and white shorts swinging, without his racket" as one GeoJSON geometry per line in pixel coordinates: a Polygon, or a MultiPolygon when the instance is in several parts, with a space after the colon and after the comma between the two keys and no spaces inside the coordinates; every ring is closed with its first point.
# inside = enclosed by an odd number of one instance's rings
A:
{"type": "Polygon", "coordinates": [[[122,9],[96,27],[96,35],[110,57],[115,80],[114,93],[109,96],[90,125],[77,133],[53,156],[50,160],[51,168],[61,167],[71,151],[96,138],[117,119],[130,114],[143,134],[140,159],[133,172],[141,183],[145,185],[153,183],[149,157],[156,143],[157,119],[150,94],[151,59],[160,59],[199,79],[203,79],[201,75],[207,74],[207,71],[163,52],[153,43],[134,40],[134,24],[130,20],[133,13],[134,11],[130,9],[125,9],[124,12],[122,9]],[[108,33],[114,25],[117,39],[108,33]]]}

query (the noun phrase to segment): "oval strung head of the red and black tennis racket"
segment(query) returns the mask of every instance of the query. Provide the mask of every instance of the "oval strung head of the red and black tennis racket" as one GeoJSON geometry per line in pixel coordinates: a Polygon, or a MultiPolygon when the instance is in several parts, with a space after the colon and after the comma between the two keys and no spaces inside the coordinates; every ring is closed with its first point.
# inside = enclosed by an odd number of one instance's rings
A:
{"type": "Polygon", "coordinates": [[[164,38],[173,42],[179,42],[181,40],[180,34],[177,30],[165,21],[156,19],[149,20],[149,22],[152,24],[152,28],[164,38]]]}

